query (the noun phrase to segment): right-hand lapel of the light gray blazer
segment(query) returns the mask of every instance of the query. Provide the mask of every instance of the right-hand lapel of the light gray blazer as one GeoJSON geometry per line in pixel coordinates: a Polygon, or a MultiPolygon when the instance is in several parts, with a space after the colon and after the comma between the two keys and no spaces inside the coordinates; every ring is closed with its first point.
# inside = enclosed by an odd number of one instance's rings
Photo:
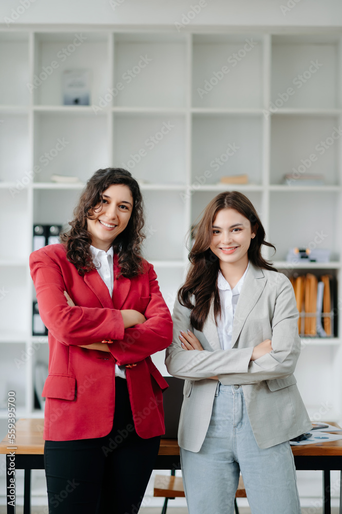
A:
{"type": "Polygon", "coordinates": [[[232,331],[232,347],[240,335],[244,322],[258,301],[267,282],[262,269],[250,263],[236,306],[232,331]]]}

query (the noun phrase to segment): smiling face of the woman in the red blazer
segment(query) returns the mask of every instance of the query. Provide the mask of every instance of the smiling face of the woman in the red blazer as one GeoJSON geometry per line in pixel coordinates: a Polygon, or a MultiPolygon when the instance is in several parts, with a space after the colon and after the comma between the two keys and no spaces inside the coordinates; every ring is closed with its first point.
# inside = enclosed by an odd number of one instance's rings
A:
{"type": "Polygon", "coordinates": [[[89,214],[87,229],[91,235],[91,244],[95,248],[107,251],[129,222],[133,209],[130,189],[123,184],[113,184],[102,193],[102,201],[89,214]]]}

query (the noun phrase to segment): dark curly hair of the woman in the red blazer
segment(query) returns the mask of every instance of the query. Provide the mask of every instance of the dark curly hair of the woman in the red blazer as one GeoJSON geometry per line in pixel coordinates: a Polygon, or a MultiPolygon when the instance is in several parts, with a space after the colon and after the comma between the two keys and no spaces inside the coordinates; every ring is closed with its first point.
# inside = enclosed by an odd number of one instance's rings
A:
{"type": "Polygon", "coordinates": [[[67,252],[67,259],[75,265],[79,274],[96,269],[90,252],[91,235],[87,230],[87,220],[91,219],[91,211],[102,202],[102,194],[112,185],[127,186],[133,197],[133,208],[129,222],[112,242],[114,253],[118,255],[120,274],[134,277],[143,272],[141,243],[143,233],[144,212],[143,198],[138,182],[122,168],[106,168],[96,171],[86,183],[79,203],[73,211],[73,220],[69,222],[70,230],[61,235],[61,242],[67,252]]]}

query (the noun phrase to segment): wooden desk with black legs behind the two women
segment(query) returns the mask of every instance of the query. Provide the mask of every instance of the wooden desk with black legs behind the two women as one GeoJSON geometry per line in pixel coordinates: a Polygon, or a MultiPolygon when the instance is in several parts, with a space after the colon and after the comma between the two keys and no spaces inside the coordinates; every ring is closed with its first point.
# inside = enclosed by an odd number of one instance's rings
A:
{"type": "MultiPolygon", "coordinates": [[[[25,470],[24,514],[30,514],[31,469],[44,469],[43,419],[20,419],[15,427],[15,444],[8,444],[8,437],[4,437],[0,443],[0,453],[6,454],[7,470],[11,469],[11,451],[15,452],[15,468],[25,470]]],[[[342,439],[307,446],[292,446],[292,452],[296,469],[323,471],[323,514],[331,514],[330,471],[341,472],[339,512],[342,514],[342,439]]],[[[161,439],[155,469],[180,469],[179,446],[176,439],[161,439]]],[[[9,486],[8,473],[6,478],[9,486]]],[[[7,504],[7,514],[15,514],[15,506],[7,504]]]]}

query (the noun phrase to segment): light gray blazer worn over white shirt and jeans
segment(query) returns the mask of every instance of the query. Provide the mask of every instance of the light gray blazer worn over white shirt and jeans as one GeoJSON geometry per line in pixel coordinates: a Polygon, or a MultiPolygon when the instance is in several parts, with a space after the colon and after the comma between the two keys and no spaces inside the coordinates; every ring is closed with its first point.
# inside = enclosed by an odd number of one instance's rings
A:
{"type": "Polygon", "coordinates": [[[300,353],[298,311],[293,287],[283,273],[250,263],[236,306],[231,350],[222,350],[213,306],[194,330],[191,310],[175,302],[174,338],[166,348],[170,375],[184,378],[178,442],[198,452],[210,422],[218,376],[224,385],[241,384],[246,409],[260,448],[283,443],[312,428],[293,372],[300,353]],[[193,330],[204,351],[183,350],[180,330],[193,330]],[[250,362],[253,347],[272,339],[272,352],[250,362]]]}

